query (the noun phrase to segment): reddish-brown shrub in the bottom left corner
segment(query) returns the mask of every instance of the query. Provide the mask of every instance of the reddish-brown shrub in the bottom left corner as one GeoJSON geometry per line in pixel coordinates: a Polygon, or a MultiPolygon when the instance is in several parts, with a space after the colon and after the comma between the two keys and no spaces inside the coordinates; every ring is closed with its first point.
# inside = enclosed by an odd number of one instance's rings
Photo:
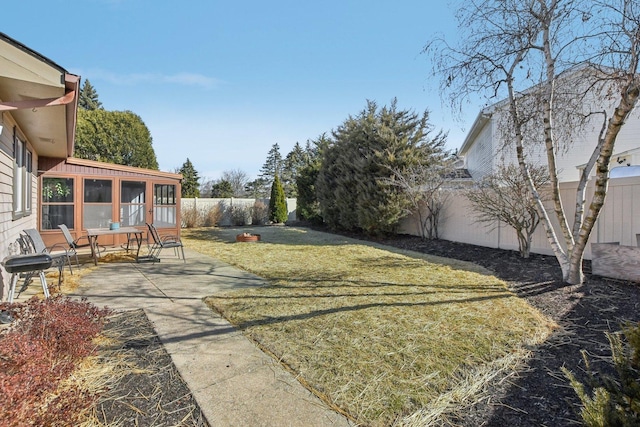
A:
{"type": "Polygon", "coordinates": [[[60,295],[0,304],[16,319],[0,335],[0,425],[74,425],[96,397],[59,389],[95,351],[109,311],[60,295]]]}

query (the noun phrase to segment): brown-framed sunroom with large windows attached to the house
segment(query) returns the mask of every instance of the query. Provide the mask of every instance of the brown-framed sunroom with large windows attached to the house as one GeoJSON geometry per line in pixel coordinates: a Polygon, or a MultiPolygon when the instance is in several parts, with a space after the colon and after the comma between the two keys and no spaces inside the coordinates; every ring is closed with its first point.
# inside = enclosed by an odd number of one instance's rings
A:
{"type": "MultiPolygon", "coordinates": [[[[59,225],[74,238],[91,228],[146,228],[153,223],[160,234],[180,234],[179,174],[92,160],[38,160],[38,228],[45,243],[63,243],[59,225]]],[[[100,236],[105,246],[125,243],[125,235],[100,236]]]]}

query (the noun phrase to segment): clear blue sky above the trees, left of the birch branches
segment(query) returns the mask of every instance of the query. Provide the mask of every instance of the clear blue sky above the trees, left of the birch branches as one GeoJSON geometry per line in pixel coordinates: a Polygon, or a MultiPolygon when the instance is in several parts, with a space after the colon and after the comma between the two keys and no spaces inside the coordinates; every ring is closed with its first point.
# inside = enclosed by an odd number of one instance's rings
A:
{"type": "Polygon", "coordinates": [[[459,148],[479,106],[454,120],[421,53],[455,39],[447,3],[21,0],[0,31],[88,79],[105,109],[138,114],[161,170],[188,158],[202,180],[253,179],[273,144],[284,157],[367,100],[428,109],[459,148]]]}

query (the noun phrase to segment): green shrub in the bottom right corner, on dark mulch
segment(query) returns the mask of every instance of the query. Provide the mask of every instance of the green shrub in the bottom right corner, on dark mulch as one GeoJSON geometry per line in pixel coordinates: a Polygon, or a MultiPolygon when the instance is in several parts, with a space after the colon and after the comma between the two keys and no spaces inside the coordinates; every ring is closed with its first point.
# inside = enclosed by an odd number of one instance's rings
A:
{"type": "Polygon", "coordinates": [[[582,402],[580,415],[585,425],[640,425],[640,323],[627,325],[622,333],[607,334],[607,338],[615,374],[595,372],[584,351],[586,387],[568,369],[562,370],[582,402]]]}

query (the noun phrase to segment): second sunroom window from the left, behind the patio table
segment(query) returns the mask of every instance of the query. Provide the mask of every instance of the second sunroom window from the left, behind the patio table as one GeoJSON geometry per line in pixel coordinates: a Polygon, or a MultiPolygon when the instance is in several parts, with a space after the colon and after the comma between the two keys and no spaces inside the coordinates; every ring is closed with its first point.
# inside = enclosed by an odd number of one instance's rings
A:
{"type": "Polygon", "coordinates": [[[107,228],[109,223],[119,222],[111,218],[113,212],[113,182],[108,179],[84,180],[82,225],[87,228],[107,228]]]}

